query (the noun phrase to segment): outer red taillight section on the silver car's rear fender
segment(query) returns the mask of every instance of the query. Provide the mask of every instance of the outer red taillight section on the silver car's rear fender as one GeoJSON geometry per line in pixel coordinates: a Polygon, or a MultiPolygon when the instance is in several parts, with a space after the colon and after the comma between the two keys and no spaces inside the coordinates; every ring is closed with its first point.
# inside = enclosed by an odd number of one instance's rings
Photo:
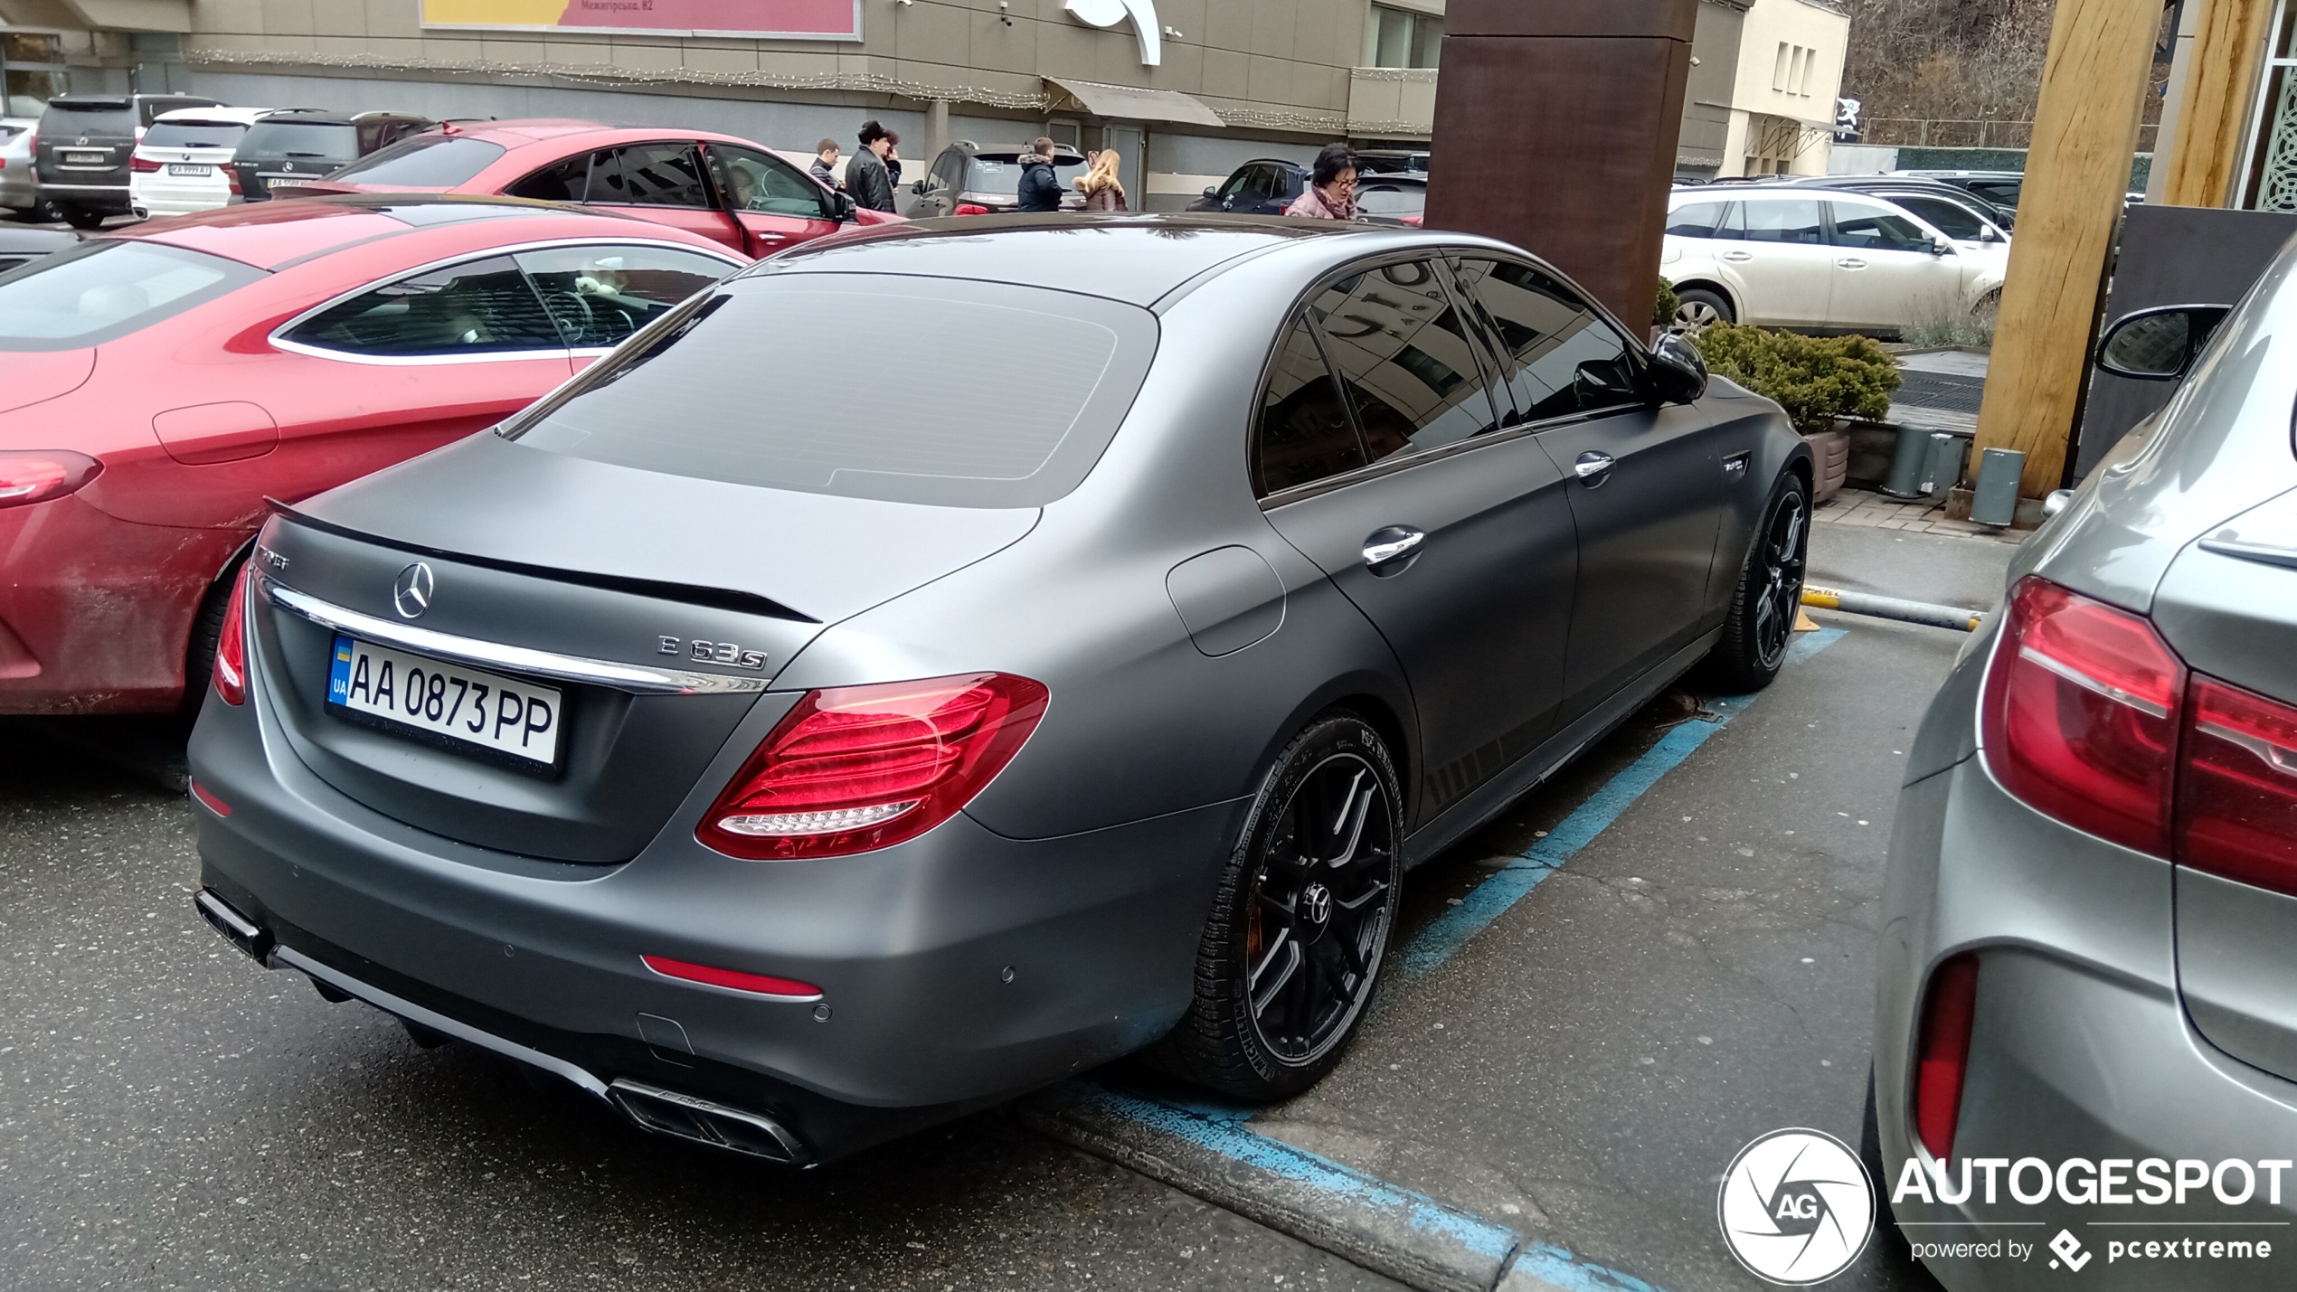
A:
{"type": "Polygon", "coordinates": [[[2168,856],[2182,693],[2148,620],[2024,578],[1987,675],[1987,766],[2049,817],[2168,856]]]}

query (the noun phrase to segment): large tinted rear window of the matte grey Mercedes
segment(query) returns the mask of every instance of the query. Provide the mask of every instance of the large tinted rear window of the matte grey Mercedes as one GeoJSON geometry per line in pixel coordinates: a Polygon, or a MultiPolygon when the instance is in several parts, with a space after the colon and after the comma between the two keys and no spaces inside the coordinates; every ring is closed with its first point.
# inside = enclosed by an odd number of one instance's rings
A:
{"type": "Polygon", "coordinates": [[[1137,305],[1038,287],[749,278],[600,360],[505,438],[765,489],[1036,507],[1100,459],[1155,335],[1137,305]],[[917,404],[910,388],[953,397],[917,404]]]}

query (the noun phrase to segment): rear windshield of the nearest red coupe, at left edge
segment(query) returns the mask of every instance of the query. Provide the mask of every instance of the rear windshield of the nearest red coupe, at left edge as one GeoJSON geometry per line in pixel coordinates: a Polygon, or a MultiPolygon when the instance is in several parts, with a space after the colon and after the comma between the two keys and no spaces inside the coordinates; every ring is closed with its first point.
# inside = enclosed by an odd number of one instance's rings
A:
{"type": "Polygon", "coordinates": [[[147,241],[94,241],[0,273],[0,351],[80,349],[214,301],[264,271],[147,241]]]}

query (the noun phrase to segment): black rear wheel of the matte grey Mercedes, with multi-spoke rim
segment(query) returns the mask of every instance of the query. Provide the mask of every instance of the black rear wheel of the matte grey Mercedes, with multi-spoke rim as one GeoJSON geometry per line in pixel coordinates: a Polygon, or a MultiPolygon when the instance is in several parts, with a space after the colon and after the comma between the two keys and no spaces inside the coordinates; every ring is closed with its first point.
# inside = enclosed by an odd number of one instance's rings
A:
{"type": "Polygon", "coordinates": [[[1197,996],[1158,1065],[1245,1099],[1321,1081],[1371,1003],[1401,881],[1394,760],[1362,718],[1325,714],[1252,801],[1197,948],[1197,996]]]}

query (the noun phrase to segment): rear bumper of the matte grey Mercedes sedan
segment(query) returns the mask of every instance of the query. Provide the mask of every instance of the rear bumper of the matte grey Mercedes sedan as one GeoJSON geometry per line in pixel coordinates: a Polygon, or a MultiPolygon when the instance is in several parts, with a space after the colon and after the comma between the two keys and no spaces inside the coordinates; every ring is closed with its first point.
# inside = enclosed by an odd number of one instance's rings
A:
{"type": "Polygon", "coordinates": [[[338,794],[262,691],[243,707],[209,698],[191,766],[232,808],[202,810],[202,879],[280,948],[606,1083],[772,1106],[822,1152],[841,1127],[898,1131],[1169,1030],[1236,819],[1213,805],[1020,842],[958,815],[877,854],[747,863],[694,842],[701,792],[634,861],[567,865],[469,849],[338,794]],[[691,984],[641,955],[822,994],[691,984]]]}

